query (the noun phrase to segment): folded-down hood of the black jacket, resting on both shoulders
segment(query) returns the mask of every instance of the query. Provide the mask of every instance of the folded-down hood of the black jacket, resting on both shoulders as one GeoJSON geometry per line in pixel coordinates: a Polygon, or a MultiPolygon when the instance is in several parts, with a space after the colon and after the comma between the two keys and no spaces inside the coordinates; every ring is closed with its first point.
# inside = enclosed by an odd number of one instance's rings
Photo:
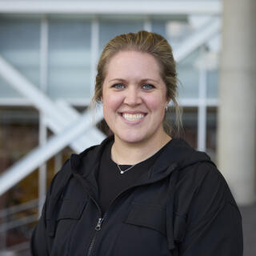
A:
{"type": "MultiPolygon", "coordinates": [[[[91,146],[81,154],[72,154],[70,158],[72,172],[85,178],[92,170],[98,168],[106,144],[113,140],[114,136],[110,136],[98,146],[91,146]]],[[[204,152],[194,150],[182,138],[172,138],[154,163],[150,175],[162,173],[173,164],[178,169],[182,169],[197,162],[210,162],[210,157],[204,152]]]]}

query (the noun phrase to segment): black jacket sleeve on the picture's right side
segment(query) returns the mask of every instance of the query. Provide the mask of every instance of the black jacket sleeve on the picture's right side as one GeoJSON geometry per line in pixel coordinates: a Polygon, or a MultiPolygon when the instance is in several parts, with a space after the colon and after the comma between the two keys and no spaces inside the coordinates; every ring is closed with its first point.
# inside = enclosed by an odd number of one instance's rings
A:
{"type": "Polygon", "coordinates": [[[183,181],[184,196],[190,195],[180,198],[187,211],[178,255],[242,256],[242,217],[222,174],[213,165],[201,163],[183,181]]]}

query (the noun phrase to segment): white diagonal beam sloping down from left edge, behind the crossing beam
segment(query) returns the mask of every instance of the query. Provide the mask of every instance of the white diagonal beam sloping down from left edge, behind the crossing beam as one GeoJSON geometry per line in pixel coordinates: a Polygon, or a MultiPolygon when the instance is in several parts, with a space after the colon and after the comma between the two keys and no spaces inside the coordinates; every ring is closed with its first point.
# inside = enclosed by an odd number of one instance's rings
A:
{"type": "MultiPolygon", "coordinates": [[[[6,81],[10,83],[10,86],[13,86],[15,90],[18,90],[19,93],[29,98],[34,106],[48,117],[48,124],[54,133],[60,132],[65,126],[70,124],[71,120],[74,121],[75,118],[78,118],[78,113],[75,114],[74,110],[71,110],[68,106],[66,106],[66,110],[60,108],[1,56],[0,74],[2,78],[5,78],[6,81]]],[[[88,122],[90,122],[90,118],[88,118],[88,122]]],[[[96,128],[91,127],[90,130],[87,131],[87,136],[81,135],[79,139],[71,142],[71,148],[75,152],[81,152],[86,147],[101,142],[102,139],[105,138],[105,135],[95,130],[96,128]],[[93,134],[90,134],[92,129],[94,129],[94,131],[92,131],[93,134]]]]}

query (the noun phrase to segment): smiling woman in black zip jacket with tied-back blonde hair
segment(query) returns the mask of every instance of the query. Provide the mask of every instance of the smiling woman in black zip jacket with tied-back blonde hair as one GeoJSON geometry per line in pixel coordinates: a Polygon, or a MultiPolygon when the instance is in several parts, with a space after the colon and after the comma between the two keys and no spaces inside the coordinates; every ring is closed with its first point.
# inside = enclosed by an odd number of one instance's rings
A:
{"type": "Polygon", "coordinates": [[[71,155],[54,177],[33,255],[242,255],[241,215],[224,178],[166,126],[169,102],[179,120],[176,91],[165,38],[139,31],[106,44],[93,102],[114,135],[71,155]]]}

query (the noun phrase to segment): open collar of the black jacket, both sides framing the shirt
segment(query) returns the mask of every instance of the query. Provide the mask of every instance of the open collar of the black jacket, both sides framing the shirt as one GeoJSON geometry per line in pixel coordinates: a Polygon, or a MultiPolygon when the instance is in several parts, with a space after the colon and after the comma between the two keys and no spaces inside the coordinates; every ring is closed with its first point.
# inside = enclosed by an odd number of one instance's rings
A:
{"type": "MultiPolygon", "coordinates": [[[[83,186],[90,188],[94,198],[98,195],[98,184],[96,173],[100,164],[102,152],[106,145],[114,140],[114,136],[107,137],[98,146],[91,146],[81,154],[72,154],[70,166],[72,173],[83,183],[83,186]]],[[[182,138],[172,138],[162,154],[158,157],[154,166],[148,173],[142,175],[134,186],[156,182],[170,175],[175,169],[182,169],[197,162],[209,162],[210,158],[203,152],[194,150],[182,138]]]]}

